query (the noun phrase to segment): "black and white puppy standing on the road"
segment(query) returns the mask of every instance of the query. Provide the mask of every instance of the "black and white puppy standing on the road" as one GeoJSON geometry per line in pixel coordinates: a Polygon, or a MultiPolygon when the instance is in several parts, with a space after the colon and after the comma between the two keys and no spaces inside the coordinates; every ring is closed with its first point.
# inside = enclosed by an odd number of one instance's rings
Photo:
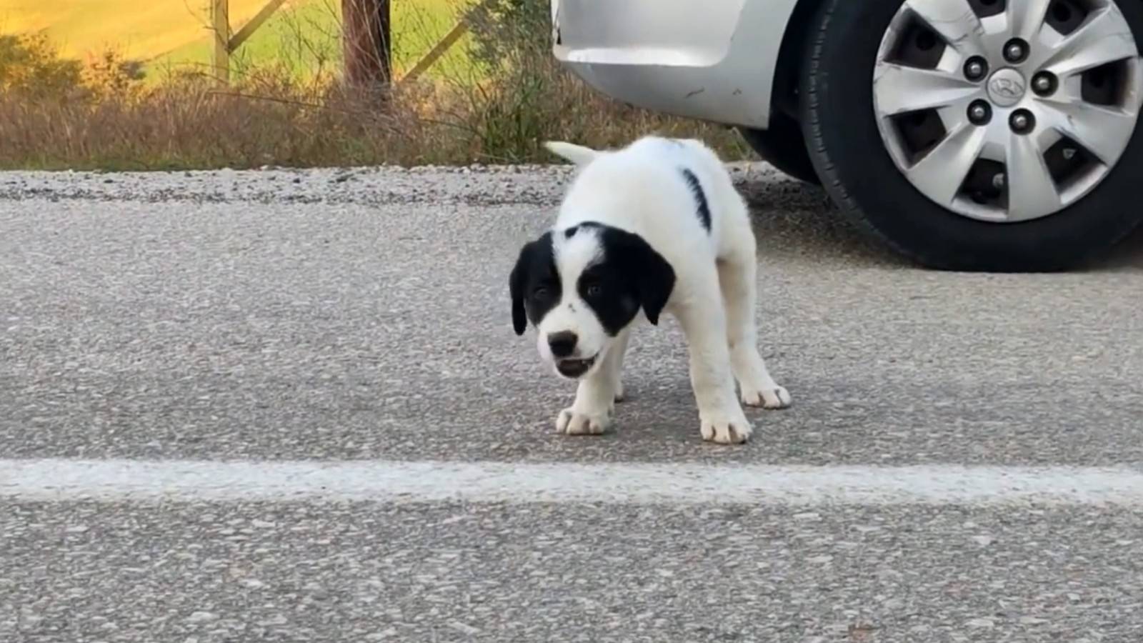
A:
{"type": "Polygon", "coordinates": [[[666,312],[687,338],[703,439],[745,442],[735,380],[750,406],[782,408],[790,394],[758,352],[754,235],[718,156],[657,136],[612,151],[545,146],[580,167],[555,225],[523,246],[509,280],[515,333],[530,320],[541,356],[580,381],[557,429],[610,426],[634,322],[666,312]]]}

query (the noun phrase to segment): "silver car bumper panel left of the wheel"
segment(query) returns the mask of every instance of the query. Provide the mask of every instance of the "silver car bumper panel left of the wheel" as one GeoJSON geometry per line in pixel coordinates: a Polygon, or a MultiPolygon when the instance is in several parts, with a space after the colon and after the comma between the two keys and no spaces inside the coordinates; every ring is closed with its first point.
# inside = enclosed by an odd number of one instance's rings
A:
{"type": "Polygon", "coordinates": [[[797,0],[552,0],[553,54],[604,94],[765,128],[797,0]]]}

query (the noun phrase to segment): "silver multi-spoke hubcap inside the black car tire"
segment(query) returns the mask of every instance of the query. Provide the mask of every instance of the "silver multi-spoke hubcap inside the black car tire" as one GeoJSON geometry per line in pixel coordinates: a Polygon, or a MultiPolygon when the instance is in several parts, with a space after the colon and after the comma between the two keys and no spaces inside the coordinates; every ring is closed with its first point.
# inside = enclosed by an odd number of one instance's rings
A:
{"type": "Polygon", "coordinates": [[[1076,203],[1119,160],[1143,63],[1111,0],[905,0],[873,103],[921,193],[973,219],[1028,221],[1076,203]]]}

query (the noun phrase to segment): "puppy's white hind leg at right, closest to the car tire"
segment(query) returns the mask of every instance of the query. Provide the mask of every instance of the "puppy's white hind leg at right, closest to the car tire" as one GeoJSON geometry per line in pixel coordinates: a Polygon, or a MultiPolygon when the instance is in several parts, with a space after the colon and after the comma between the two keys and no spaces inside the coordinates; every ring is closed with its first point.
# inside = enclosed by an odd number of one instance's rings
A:
{"type": "Polygon", "coordinates": [[[742,402],[748,406],[785,408],[790,394],[774,381],[758,352],[754,309],[758,301],[756,241],[751,230],[736,236],[734,252],[718,263],[719,286],[726,303],[727,343],[730,364],[738,380],[742,402]]]}

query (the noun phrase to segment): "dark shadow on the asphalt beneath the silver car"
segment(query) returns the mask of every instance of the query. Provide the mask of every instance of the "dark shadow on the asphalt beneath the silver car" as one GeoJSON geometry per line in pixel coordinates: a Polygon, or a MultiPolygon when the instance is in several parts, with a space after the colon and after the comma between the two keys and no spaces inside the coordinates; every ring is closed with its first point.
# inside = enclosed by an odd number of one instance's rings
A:
{"type": "MultiPolygon", "coordinates": [[[[750,206],[764,257],[925,270],[863,230],[861,223],[834,207],[820,186],[758,175],[738,188],[750,206]]],[[[1108,256],[1077,270],[1143,271],[1143,227],[1108,256]]]]}

